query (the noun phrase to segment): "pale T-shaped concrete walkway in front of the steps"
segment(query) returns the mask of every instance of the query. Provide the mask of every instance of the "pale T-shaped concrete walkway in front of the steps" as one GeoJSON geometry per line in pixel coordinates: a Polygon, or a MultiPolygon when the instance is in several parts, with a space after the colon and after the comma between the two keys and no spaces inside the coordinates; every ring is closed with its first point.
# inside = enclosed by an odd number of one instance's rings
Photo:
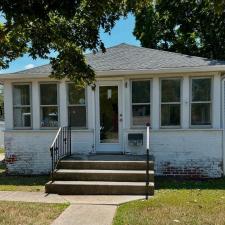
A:
{"type": "Polygon", "coordinates": [[[0,201],[70,203],[52,225],[111,225],[118,205],[138,199],[144,199],[144,196],[0,191],[0,201]]]}

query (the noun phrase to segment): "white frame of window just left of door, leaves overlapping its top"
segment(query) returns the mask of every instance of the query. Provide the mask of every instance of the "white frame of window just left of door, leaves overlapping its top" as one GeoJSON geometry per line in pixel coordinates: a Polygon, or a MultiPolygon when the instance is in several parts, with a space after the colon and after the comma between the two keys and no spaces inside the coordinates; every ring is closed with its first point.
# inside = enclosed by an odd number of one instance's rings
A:
{"type": "Polygon", "coordinates": [[[69,84],[72,82],[66,83],[66,98],[67,98],[67,116],[68,116],[68,125],[70,125],[70,117],[69,117],[69,108],[76,107],[76,106],[85,106],[85,113],[86,113],[86,124],[84,127],[73,127],[71,126],[72,130],[86,130],[88,129],[88,99],[87,99],[87,87],[84,88],[84,97],[85,97],[85,104],[70,104],[69,103],[69,84]]]}

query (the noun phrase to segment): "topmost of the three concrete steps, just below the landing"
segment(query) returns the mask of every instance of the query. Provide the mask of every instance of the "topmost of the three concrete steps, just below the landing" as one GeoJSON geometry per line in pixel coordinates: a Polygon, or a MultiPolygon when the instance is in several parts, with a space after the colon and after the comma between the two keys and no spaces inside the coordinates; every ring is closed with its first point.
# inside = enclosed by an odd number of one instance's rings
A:
{"type": "MultiPolygon", "coordinates": [[[[145,170],[146,161],[61,160],[58,169],[145,170]]],[[[154,170],[153,161],[149,162],[149,170],[154,170]]]]}

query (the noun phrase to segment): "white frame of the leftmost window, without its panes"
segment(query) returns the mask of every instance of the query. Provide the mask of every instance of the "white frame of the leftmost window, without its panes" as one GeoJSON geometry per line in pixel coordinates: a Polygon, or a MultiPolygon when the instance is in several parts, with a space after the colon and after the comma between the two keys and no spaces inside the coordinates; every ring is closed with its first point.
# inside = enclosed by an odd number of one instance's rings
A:
{"type": "Polygon", "coordinates": [[[31,130],[33,128],[33,115],[32,115],[32,83],[29,82],[19,82],[19,83],[12,83],[12,105],[13,105],[13,129],[15,130],[31,130]],[[19,85],[28,85],[29,86],[29,98],[30,98],[30,105],[14,105],[14,86],[19,85]],[[14,125],[14,108],[28,108],[30,107],[30,127],[15,127],[14,125]]]}

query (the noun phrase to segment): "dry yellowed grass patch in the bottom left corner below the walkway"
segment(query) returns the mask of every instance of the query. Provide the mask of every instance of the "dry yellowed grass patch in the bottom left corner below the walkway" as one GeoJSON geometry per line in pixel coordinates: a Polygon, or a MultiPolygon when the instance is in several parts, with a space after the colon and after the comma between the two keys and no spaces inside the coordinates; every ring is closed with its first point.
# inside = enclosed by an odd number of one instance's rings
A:
{"type": "Polygon", "coordinates": [[[68,204],[44,204],[0,202],[1,225],[48,225],[53,222],[68,204]]]}

